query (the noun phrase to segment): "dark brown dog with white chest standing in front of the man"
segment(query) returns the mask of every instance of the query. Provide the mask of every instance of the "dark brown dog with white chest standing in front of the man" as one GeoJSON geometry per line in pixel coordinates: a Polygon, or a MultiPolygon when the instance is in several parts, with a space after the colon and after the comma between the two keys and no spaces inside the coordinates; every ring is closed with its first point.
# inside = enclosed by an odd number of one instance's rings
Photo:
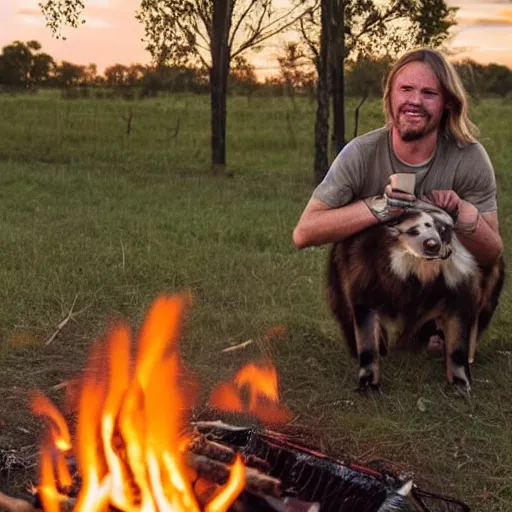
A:
{"type": "Polygon", "coordinates": [[[442,332],[448,383],[471,389],[470,364],[498,306],[505,266],[503,257],[478,265],[455,220],[418,200],[402,216],[332,244],[327,300],[358,359],[360,390],[379,387],[389,322],[401,327],[399,348],[418,350],[442,332]]]}

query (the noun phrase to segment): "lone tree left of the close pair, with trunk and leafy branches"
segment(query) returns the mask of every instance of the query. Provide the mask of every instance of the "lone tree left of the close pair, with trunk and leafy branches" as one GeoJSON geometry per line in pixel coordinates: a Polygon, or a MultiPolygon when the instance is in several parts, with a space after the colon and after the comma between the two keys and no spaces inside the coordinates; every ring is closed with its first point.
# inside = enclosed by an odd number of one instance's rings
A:
{"type": "MultiPolygon", "coordinates": [[[[141,0],[136,18],[144,25],[155,65],[200,63],[209,70],[212,166],[226,163],[226,96],[232,59],[295,23],[308,7],[299,0],[274,9],[272,0],[141,0]]],[[[54,33],[63,23],[78,26],[81,0],[42,0],[54,33]]]]}

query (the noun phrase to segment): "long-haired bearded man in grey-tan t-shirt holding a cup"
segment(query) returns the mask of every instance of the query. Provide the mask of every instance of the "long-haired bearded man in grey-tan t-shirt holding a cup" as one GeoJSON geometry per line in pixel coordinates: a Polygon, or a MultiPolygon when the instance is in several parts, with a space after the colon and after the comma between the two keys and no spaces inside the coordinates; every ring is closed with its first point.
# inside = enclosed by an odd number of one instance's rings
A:
{"type": "Polygon", "coordinates": [[[436,50],[407,52],[388,74],[383,108],[386,126],[350,141],[314,190],[293,231],[295,246],[344,239],[400,215],[388,199],[421,197],[456,212],[461,243],[492,265],[503,251],[496,179],[453,66],[436,50]],[[398,173],[415,175],[414,195],[396,190],[398,173]]]}

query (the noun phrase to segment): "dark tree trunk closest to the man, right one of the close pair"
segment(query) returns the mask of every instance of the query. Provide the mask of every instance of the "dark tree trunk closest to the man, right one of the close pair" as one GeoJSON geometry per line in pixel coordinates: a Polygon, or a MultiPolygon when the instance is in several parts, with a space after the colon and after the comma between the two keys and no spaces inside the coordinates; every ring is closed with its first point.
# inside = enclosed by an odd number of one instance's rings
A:
{"type": "Polygon", "coordinates": [[[333,108],[332,145],[337,155],[345,145],[345,11],[343,0],[332,1],[331,92],[333,108]]]}

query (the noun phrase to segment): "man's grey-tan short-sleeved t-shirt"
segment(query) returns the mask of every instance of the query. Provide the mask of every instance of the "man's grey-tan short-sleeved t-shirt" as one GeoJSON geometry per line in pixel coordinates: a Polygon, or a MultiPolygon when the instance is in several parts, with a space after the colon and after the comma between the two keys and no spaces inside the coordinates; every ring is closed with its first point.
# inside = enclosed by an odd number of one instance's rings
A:
{"type": "Polygon", "coordinates": [[[352,139],[335,158],[313,197],[333,208],[344,206],[382,194],[389,176],[398,172],[416,174],[416,197],[431,190],[454,190],[481,212],[497,209],[494,169],[480,143],[462,147],[441,136],[428,161],[409,165],[395,155],[387,128],[352,139]]]}

